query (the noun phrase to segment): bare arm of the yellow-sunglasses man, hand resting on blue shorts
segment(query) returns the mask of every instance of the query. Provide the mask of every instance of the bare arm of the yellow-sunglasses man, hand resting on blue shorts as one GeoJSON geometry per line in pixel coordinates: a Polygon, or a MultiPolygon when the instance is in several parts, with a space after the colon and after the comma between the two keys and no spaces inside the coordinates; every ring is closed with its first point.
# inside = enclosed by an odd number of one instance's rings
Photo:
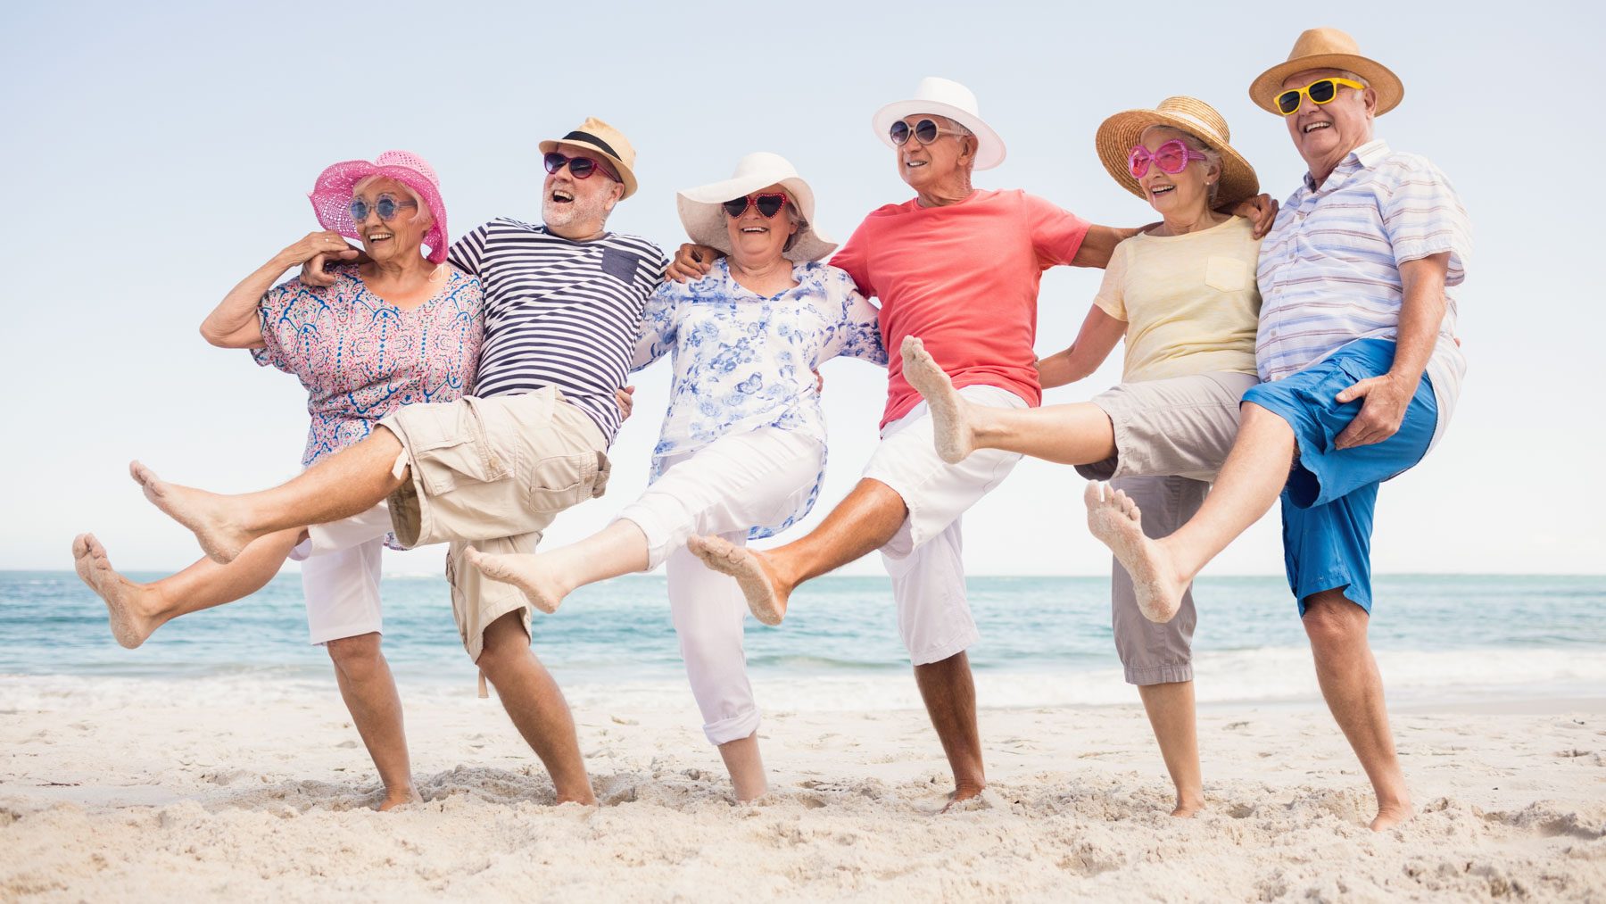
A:
{"type": "Polygon", "coordinates": [[[1341,450],[1381,443],[1405,421],[1405,409],[1416,395],[1428,358],[1439,340],[1444,323],[1444,275],[1450,268],[1450,252],[1444,250],[1400,263],[1400,323],[1394,339],[1394,364],[1381,377],[1372,377],[1338,393],[1338,401],[1365,398],[1360,414],[1333,442],[1341,450]]]}

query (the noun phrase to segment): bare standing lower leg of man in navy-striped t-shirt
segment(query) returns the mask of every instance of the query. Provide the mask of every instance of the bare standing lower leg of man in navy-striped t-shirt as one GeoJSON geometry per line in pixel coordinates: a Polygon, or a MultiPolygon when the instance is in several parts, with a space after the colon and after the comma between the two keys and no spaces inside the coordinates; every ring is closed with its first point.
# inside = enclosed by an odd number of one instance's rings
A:
{"type": "Polygon", "coordinates": [[[509,612],[485,628],[479,666],[496,687],[519,734],[552,776],[557,803],[594,804],[569,702],[541,660],[535,658],[519,612],[509,612]]]}

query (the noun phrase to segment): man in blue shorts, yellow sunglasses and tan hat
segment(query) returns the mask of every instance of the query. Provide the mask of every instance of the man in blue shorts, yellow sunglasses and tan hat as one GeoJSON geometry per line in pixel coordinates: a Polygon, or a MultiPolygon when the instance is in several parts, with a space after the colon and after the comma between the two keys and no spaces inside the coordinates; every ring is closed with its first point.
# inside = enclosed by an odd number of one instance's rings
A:
{"type": "Polygon", "coordinates": [[[1372,779],[1372,829],[1410,817],[1410,793],[1367,644],[1378,485],[1444,435],[1465,360],[1455,302],[1469,250],[1449,180],[1373,138],[1399,77],[1336,29],[1304,32],[1249,96],[1288,124],[1309,165],[1261,246],[1256,360],[1238,440],[1209,499],[1148,540],[1123,493],[1087,488],[1087,522],[1132,573],[1145,615],[1169,620],[1184,588],[1282,498],[1283,557],[1333,718],[1372,779]]]}

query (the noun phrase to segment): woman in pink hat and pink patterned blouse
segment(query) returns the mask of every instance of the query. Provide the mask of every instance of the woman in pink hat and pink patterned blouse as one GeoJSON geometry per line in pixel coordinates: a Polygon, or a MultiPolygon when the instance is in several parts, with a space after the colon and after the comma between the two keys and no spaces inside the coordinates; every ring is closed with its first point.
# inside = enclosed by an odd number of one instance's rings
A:
{"type": "MultiPolygon", "coordinates": [[[[480,283],[446,263],[446,209],[435,170],[419,156],[328,167],[310,194],[323,231],[310,233],[246,276],[201,323],[220,348],[249,348],[262,366],[307,387],[312,427],[302,466],[369,434],[403,405],[448,401],[474,385],[483,318],[480,283]],[[366,257],[345,239],[358,239],[366,257]],[[427,246],[427,252],[424,247],[427,246]],[[320,254],[347,263],[328,287],[275,281],[320,254]]],[[[79,576],[106,601],[112,636],[138,647],[164,623],[246,597],[286,559],[302,560],[312,642],[334,662],[340,695],[384,782],[379,809],[418,801],[402,700],[381,652],[379,549],[385,507],[251,543],[226,565],[201,559],[149,584],[119,575],[92,535],[74,540],[79,576]]]]}

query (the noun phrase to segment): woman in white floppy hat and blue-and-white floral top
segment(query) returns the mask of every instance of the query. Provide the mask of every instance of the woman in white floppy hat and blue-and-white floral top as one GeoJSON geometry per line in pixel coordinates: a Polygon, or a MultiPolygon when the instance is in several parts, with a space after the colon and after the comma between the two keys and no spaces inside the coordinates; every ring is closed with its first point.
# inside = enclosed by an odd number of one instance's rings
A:
{"type": "Polygon", "coordinates": [[[814,368],[846,355],[887,364],[877,308],[817,259],[835,244],[811,225],[814,193],[784,157],[748,154],[726,181],[679,193],[691,239],[728,254],[702,279],[647,302],[634,369],[663,355],[675,382],[652,485],[618,520],[572,546],[469,560],[517,584],[543,612],[575,588],[665,564],[681,655],[737,800],[764,793],[758,707],[742,655],[747,602],[686,551],[692,533],[772,536],[814,506],[825,419],[814,368]]]}

